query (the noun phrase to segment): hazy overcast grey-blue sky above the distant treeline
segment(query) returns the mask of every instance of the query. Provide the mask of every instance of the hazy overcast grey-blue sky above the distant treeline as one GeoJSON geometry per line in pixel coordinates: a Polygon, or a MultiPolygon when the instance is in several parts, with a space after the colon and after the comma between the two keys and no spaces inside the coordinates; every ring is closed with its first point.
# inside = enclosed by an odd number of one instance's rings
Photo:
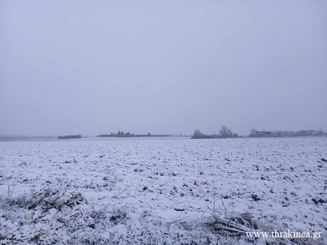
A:
{"type": "Polygon", "coordinates": [[[1,1],[0,134],[327,131],[327,1],[1,1]]]}

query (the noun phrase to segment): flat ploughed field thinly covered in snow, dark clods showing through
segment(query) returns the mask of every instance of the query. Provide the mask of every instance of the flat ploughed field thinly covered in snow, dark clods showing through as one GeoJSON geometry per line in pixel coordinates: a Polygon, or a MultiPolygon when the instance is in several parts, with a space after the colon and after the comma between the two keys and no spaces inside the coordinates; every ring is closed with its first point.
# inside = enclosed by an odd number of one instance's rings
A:
{"type": "Polygon", "coordinates": [[[0,142],[0,243],[326,244],[322,158],[327,138],[0,142]]]}

